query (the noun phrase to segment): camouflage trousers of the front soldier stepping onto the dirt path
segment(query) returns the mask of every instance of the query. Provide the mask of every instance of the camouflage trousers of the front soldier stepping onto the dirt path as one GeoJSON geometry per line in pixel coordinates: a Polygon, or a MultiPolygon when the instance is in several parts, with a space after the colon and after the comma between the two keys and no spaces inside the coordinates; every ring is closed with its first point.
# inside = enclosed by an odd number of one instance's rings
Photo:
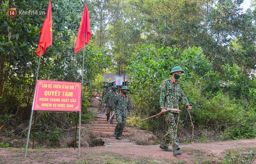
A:
{"type": "Polygon", "coordinates": [[[179,113],[168,112],[165,116],[168,130],[166,131],[160,146],[168,148],[169,144],[172,144],[172,150],[179,150],[179,142],[177,138],[178,123],[180,119],[179,113]]]}

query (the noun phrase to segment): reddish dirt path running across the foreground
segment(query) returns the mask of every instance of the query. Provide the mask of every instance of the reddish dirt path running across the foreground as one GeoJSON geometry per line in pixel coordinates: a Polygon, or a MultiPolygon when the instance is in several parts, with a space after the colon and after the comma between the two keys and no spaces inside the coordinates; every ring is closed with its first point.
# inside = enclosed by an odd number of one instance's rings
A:
{"type": "MultiPolygon", "coordinates": [[[[98,102],[94,102],[96,103],[98,102]]],[[[95,107],[92,108],[95,110],[95,107]]],[[[97,112],[97,111],[96,111],[97,112]]],[[[96,132],[93,123],[91,129],[96,132]]],[[[106,125],[104,125],[106,126],[106,125]]],[[[136,133],[142,137],[148,134],[138,129],[126,129],[127,134],[136,133]]],[[[108,132],[102,131],[102,137],[109,140],[115,139],[110,137],[113,129],[108,132]],[[110,135],[108,135],[110,134],[110,135]]],[[[134,136],[130,135],[132,138],[134,136]]],[[[127,135],[127,137],[129,137],[127,135]]],[[[126,138],[126,137],[124,137],[126,138]]],[[[134,138],[135,139],[135,138],[134,138]]],[[[225,154],[229,150],[233,150],[233,154],[246,155],[249,152],[255,154],[256,139],[236,140],[236,141],[221,141],[212,143],[190,143],[180,144],[182,154],[173,156],[172,152],[161,150],[158,145],[135,145],[135,144],[113,144],[111,146],[96,146],[96,147],[81,147],[80,157],[78,156],[78,148],[60,148],[60,149],[34,149],[29,150],[27,158],[24,157],[24,148],[0,148],[0,164],[222,164],[225,154]],[[236,150],[236,151],[234,151],[236,150]]],[[[247,163],[256,164],[256,156],[245,159],[247,163]]]]}

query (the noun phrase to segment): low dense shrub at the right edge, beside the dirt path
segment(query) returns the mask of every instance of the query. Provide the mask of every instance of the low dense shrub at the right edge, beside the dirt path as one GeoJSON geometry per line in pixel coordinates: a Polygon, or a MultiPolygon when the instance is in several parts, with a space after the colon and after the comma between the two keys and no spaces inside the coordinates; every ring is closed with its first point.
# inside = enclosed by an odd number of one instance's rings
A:
{"type": "Polygon", "coordinates": [[[221,92],[209,100],[198,98],[199,106],[194,107],[192,113],[196,113],[194,123],[207,129],[225,131],[229,139],[255,137],[255,111],[246,111],[236,100],[230,100],[221,92]]]}

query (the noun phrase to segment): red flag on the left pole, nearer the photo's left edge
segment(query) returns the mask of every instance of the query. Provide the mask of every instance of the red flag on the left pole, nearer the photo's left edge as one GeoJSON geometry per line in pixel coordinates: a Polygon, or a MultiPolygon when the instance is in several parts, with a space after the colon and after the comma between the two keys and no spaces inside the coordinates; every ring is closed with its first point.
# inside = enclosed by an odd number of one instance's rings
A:
{"type": "Polygon", "coordinates": [[[38,48],[36,51],[36,54],[38,56],[40,56],[41,47],[42,47],[42,55],[43,55],[45,49],[50,45],[52,45],[52,7],[51,7],[50,0],[48,4],[47,14],[44,19],[42,29],[40,31],[40,35],[41,37],[40,37],[38,48]]]}

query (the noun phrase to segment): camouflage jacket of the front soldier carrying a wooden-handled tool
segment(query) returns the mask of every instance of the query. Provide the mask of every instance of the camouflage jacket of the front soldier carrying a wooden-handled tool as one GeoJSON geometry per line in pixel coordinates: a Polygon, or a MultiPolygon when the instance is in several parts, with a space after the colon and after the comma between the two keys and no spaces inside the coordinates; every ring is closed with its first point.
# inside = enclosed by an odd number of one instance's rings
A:
{"type": "MultiPolygon", "coordinates": [[[[174,82],[172,78],[164,80],[161,85],[160,107],[161,109],[176,108],[179,109],[179,101],[184,105],[190,105],[188,99],[184,96],[180,84],[174,82]]],[[[179,111],[172,111],[179,113],[179,111]]]]}

